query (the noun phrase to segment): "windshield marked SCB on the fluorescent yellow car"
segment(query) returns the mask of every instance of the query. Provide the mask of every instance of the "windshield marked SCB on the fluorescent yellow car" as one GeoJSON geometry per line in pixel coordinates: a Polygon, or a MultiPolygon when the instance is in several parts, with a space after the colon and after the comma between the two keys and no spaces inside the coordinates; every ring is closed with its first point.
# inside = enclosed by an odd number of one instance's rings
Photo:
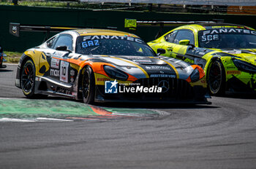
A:
{"type": "Polygon", "coordinates": [[[229,28],[198,32],[199,47],[217,49],[256,48],[256,31],[229,28]]]}

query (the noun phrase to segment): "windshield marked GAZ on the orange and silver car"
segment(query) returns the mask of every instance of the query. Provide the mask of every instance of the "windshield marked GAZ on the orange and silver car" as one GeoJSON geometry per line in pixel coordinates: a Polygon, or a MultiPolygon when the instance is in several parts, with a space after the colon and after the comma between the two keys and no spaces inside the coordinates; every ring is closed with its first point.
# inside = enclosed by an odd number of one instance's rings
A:
{"type": "Polygon", "coordinates": [[[129,36],[79,36],[76,52],[83,55],[156,56],[141,39],[129,36]]]}

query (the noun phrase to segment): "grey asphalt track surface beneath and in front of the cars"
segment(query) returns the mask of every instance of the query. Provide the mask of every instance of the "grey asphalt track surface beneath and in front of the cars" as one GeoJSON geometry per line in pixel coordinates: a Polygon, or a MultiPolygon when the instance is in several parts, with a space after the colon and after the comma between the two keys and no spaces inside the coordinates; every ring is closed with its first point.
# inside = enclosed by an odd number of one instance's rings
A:
{"type": "MultiPolygon", "coordinates": [[[[0,70],[0,98],[24,98],[15,71],[0,70]]],[[[256,98],[208,101],[124,105],[165,112],[145,119],[0,122],[0,168],[256,168],[256,98]]]]}

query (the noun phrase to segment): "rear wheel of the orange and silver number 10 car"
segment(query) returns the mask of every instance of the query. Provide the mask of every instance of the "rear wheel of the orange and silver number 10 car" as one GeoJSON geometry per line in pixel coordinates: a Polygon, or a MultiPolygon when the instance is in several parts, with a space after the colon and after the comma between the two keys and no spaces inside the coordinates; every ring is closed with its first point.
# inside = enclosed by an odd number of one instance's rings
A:
{"type": "Polygon", "coordinates": [[[35,70],[33,61],[27,60],[20,74],[21,89],[27,98],[34,96],[35,70]]]}

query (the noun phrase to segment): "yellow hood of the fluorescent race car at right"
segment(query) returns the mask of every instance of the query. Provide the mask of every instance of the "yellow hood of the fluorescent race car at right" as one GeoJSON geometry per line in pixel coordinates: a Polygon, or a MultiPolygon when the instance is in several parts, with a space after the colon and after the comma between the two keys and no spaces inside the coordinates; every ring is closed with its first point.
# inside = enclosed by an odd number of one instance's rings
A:
{"type": "Polygon", "coordinates": [[[256,65],[256,49],[222,50],[222,52],[229,53],[256,65]]]}

